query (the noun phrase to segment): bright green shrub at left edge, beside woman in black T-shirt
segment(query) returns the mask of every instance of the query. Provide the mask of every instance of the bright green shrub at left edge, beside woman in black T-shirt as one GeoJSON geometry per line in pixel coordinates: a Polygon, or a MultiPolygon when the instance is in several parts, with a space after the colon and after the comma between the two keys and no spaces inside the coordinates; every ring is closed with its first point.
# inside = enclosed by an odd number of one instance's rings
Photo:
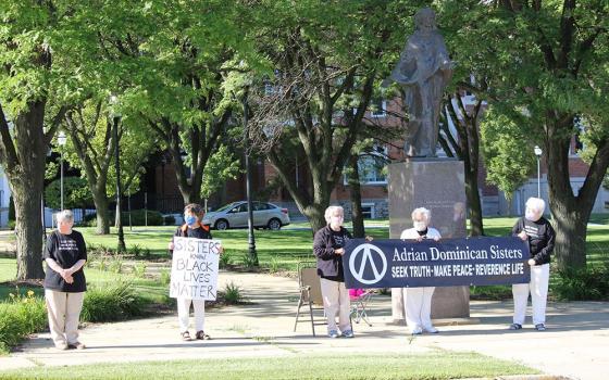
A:
{"type": "Polygon", "coordinates": [[[10,293],[11,301],[0,303],[0,352],[8,352],[28,334],[47,328],[45,301],[32,290],[22,295],[10,293]]]}

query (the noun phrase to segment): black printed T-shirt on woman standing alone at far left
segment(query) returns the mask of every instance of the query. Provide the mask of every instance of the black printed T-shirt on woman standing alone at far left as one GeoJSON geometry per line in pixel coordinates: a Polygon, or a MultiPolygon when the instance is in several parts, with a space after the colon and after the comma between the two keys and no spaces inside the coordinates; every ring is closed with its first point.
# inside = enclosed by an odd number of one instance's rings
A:
{"type": "MultiPolygon", "coordinates": [[[[72,230],[70,235],[63,235],[53,231],[47,239],[44,258],[52,258],[63,269],[71,268],[79,259],[87,259],[87,245],[80,232],[72,230]]],[[[45,276],[45,289],[51,289],[59,292],[80,293],[87,290],[85,271],[83,268],[72,274],[74,282],[67,283],[65,280],[47,266],[47,276],[45,276]]]]}

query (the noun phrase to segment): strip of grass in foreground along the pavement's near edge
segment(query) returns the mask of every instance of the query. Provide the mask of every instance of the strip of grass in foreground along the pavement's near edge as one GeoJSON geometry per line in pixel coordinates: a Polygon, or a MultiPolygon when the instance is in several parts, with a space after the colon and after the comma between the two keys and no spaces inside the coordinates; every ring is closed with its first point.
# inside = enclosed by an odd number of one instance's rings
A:
{"type": "Polygon", "coordinates": [[[3,379],[461,379],[538,371],[473,353],[198,359],[0,372],[3,379]]]}

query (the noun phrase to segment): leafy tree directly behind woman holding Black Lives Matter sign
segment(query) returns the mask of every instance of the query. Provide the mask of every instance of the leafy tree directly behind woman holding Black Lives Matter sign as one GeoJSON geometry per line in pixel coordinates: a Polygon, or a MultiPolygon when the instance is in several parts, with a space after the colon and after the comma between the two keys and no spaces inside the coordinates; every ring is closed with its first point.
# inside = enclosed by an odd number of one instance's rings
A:
{"type": "Polygon", "coordinates": [[[101,40],[122,67],[124,115],[142,118],[169,151],[185,203],[200,201],[206,165],[234,127],[226,81],[247,54],[244,10],[235,1],[150,1],[126,10],[130,22],[101,40]]]}

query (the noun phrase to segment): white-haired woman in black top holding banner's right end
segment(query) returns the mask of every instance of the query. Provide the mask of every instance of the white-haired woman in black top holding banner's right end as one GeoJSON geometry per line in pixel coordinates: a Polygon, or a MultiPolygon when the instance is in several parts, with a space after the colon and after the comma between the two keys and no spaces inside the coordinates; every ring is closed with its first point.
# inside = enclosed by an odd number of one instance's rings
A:
{"type": "Polygon", "coordinates": [[[510,330],[520,330],[524,324],[526,303],[531,293],[533,304],[533,325],[537,331],[546,330],[546,303],[550,276],[550,254],[554,250],[556,232],[550,223],[543,217],[546,203],[539,198],[526,201],[524,217],[518,219],[512,236],[529,243],[531,258],[531,282],[512,284],[514,300],[513,324],[510,330]]]}

